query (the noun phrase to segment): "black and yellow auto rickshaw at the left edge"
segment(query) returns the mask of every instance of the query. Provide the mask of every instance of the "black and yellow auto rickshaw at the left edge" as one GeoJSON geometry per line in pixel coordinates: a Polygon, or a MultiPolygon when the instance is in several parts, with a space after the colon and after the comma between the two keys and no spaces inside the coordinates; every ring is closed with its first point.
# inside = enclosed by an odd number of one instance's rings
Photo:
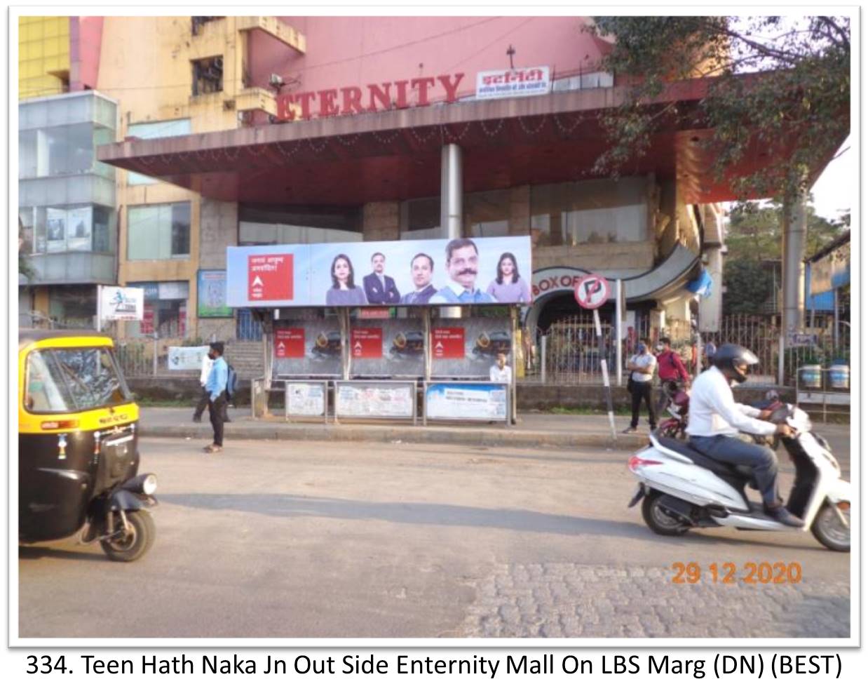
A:
{"type": "Polygon", "coordinates": [[[154,543],[156,477],[138,474],[139,408],[110,337],[18,333],[18,540],[81,531],[112,560],[154,543]]]}

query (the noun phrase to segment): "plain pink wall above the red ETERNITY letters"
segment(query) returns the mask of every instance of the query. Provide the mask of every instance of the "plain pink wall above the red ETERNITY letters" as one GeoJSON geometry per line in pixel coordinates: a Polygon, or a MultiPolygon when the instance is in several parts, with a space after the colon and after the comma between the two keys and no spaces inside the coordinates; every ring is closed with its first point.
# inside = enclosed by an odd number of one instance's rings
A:
{"type": "MultiPolygon", "coordinates": [[[[286,82],[285,94],[463,72],[461,97],[475,94],[478,71],[510,67],[510,44],[516,68],[548,65],[553,79],[592,72],[607,48],[582,34],[582,17],[280,19],[306,36],[306,55],[255,32],[248,60],[253,84],[266,87],[275,73],[286,82]]],[[[432,102],[444,96],[439,83],[429,90],[432,102]]]]}

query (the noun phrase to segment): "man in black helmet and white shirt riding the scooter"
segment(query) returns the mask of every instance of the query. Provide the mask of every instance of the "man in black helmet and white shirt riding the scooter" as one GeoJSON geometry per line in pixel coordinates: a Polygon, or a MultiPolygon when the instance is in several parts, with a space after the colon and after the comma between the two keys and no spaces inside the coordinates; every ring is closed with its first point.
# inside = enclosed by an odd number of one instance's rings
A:
{"type": "Polygon", "coordinates": [[[766,512],[787,526],[801,526],[801,519],[792,516],[778,496],[778,459],[774,451],[759,444],[747,444],[739,438],[739,431],[792,436],[788,425],[759,421],[769,418],[770,410],[735,402],[731,381],[744,383],[749,367],[756,364],[759,359],[743,346],[725,344],[718,348],[711,368],[694,380],[687,422],[690,445],[708,458],[750,465],[766,512]]]}

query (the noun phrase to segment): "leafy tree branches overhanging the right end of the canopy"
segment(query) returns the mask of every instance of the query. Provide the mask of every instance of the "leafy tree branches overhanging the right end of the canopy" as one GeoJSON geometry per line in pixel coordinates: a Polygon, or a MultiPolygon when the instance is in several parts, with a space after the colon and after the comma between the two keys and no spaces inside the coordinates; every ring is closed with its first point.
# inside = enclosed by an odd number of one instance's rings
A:
{"type": "Polygon", "coordinates": [[[732,185],[742,200],[757,192],[794,194],[804,173],[831,157],[849,131],[850,21],[840,16],[600,16],[585,28],[614,36],[602,69],[623,76],[628,97],[602,116],[610,146],[595,162],[616,175],[648,152],[664,122],[712,128],[707,148],[720,179],[752,142],[781,155],[732,185]],[[750,79],[746,80],[746,76],[750,79]],[[695,113],[654,102],[667,83],[713,77],[695,113]]]}

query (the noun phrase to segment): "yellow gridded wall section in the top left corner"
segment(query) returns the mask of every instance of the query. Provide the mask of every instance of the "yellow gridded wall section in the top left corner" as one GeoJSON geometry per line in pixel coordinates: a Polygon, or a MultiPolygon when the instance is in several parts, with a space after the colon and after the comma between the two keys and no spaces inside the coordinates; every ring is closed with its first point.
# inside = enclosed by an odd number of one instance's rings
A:
{"type": "Polygon", "coordinates": [[[18,99],[59,95],[68,83],[69,17],[18,17],[18,99]]]}

